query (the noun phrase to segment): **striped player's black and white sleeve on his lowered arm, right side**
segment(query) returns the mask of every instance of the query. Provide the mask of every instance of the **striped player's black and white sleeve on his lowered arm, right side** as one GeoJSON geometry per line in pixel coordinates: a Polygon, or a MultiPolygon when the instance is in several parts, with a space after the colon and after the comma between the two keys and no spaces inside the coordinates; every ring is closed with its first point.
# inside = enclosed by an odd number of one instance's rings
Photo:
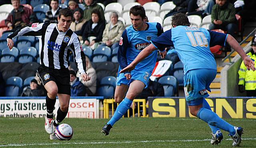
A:
{"type": "Polygon", "coordinates": [[[76,34],[72,34],[72,38],[74,38],[74,40],[72,44],[70,44],[70,48],[72,49],[71,51],[74,55],[78,71],[80,74],[86,73],[86,61],[82,45],[80,44],[80,40],[76,34]]]}

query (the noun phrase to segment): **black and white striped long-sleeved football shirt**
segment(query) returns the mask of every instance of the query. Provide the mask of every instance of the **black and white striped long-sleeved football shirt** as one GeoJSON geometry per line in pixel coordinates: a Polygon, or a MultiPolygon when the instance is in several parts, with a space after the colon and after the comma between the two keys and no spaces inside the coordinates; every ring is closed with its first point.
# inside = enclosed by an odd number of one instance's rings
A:
{"type": "Polygon", "coordinates": [[[70,51],[73,53],[79,73],[86,73],[85,54],[78,36],[69,29],[60,32],[57,24],[34,23],[16,30],[8,38],[36,36],[39,38],[40,64],[49,68],[68,68],[70,51]]]}

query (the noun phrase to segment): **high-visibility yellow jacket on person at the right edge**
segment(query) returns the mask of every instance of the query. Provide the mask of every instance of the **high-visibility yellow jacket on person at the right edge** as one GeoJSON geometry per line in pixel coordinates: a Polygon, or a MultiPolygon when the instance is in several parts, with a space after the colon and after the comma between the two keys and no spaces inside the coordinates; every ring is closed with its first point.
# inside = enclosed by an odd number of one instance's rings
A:
{"type": "MultiPolygon", "coordinates": [[[[256,62],[256,55],[252,52],[247,54],[254,63],[256,62]]],[[[245,85],[245,90],[255,90],[256,89],[256,71],[247,70],[244,62],[242,62],[240,69],[238,71],[239,82],[238,85],[245,85]]]]}

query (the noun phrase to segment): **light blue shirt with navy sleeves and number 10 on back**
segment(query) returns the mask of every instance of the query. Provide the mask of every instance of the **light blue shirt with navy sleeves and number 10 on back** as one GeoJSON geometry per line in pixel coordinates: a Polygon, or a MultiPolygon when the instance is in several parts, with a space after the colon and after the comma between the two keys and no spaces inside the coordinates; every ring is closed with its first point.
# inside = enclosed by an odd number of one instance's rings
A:
{"type": "Polygon", "coordinates": [[[216,61],[210,51],[215,45],[225,46],[228,34],[213,32],[204,28],[177,26],[152,40],[156,48],[174,46],[182,63],[184,73],[192,69],[214,69],[216,61]]]}

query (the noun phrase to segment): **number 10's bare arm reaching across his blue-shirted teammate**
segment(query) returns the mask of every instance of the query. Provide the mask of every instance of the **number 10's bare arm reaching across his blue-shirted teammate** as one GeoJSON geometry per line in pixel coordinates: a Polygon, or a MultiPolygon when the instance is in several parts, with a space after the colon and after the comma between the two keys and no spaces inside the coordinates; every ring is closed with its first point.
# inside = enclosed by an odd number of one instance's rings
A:
{"type": "Polygon", "coordinates": [[[129,64],[126,68],[122,69],[119,73],[130,72],[130,71],[134,70],[135,66],[139,62],[144,60],[144,58],[146,58],[148,55],[150,55],[151,52],[153,52],[154,50],[156,50],[156,47],[153,44],[150,44],[148,47],[144,48],[140,52],[140,54],[138,54],[138,56],[134,59],[134,61],[132,61],[131,64],[129,64]]]}

